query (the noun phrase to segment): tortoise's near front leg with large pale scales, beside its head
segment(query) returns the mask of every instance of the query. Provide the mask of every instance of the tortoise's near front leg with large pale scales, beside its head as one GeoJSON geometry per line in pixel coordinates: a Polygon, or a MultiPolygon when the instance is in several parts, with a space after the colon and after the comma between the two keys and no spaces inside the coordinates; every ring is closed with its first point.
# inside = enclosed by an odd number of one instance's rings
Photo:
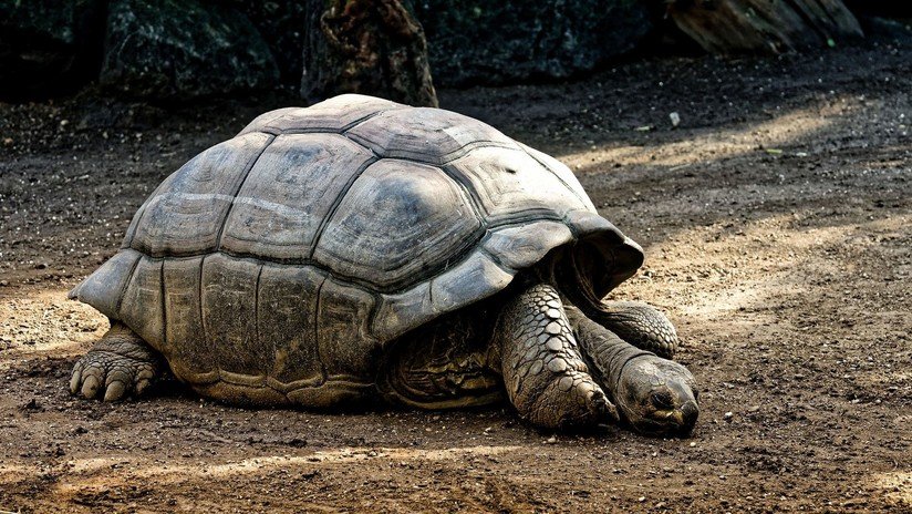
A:
{"type": "Polygon", "coordinates": [[[510,301],[495,335],[507,394],[521,417],[548,429],[618,421],[589,376],[553,287],[536,285],[510,301]]]}

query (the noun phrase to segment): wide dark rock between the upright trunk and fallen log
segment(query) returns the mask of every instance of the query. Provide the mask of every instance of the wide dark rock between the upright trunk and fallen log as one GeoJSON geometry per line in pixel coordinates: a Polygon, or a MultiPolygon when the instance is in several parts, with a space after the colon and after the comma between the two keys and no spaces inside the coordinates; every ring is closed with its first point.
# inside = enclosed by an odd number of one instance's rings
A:
{"type": "Polygon", "coordinates": [[[419,0],[438,84],[516,83],[590,71],[651,30],[639,0],[419,0]]]}

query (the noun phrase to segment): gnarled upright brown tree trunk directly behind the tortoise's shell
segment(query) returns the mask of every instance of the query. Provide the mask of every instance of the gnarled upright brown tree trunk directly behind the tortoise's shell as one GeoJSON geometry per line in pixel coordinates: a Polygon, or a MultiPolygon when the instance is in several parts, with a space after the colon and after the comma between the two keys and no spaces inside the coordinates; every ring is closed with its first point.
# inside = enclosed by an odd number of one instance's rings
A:
{"type": "Polygon", "coordinates": [[[402,0],[309,0],[301,95],[437,106],[424,30],[402,0]]]}

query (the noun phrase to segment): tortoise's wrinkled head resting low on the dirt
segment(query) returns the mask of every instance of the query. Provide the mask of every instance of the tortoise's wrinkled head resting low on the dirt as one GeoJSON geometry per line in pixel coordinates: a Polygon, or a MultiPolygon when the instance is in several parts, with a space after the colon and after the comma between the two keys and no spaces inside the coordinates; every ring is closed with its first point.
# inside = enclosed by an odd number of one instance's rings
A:
{"type": "Polygon", "coordinates": [[[694,377],[677,362],[652,354],[628,361],[614,401],[638,432],[686,434],[699,414],[694,377]]]}

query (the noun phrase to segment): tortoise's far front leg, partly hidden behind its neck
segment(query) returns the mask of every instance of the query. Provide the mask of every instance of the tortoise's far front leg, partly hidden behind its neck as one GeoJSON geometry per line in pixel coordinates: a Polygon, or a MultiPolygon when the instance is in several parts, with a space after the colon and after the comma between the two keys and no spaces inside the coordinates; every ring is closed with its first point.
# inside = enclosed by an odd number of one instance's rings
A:
{"type": "Polygon", "coordinates": [[[665,359],[673,359],[677,351],[674,325],[650,305],[639,301],[603,301],[590,317],[641,350],[665,359]]]}

